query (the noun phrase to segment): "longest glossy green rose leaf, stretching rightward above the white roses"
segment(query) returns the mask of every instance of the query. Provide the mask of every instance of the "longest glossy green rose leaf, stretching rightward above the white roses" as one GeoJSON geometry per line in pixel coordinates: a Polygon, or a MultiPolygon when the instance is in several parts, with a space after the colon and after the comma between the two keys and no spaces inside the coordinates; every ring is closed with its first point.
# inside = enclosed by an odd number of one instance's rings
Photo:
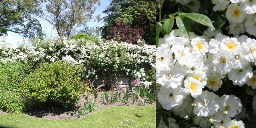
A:
{"type": "Polygon", "coordinates": [[[188,13],[184,16],[215,30],[215,28],[212,25],[212,21],[206,15],[192,12],[192,13],[188,13]]]}

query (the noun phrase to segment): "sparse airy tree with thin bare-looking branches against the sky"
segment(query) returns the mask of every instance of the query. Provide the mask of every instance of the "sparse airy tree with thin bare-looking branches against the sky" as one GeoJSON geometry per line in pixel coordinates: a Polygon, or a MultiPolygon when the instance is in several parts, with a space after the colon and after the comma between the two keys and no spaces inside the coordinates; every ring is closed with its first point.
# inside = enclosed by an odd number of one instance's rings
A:
{"type": "MultiPolygon", "coordinates": [[[[41,17],[53,25],[59,36],[69,39],[76,32],[76,28],[85,26],[93,19],[96,3],[100,5],[98,0],[47,0],[41,17]]],[[[96,20],[99,19],[97,16],[96,20]]]]}

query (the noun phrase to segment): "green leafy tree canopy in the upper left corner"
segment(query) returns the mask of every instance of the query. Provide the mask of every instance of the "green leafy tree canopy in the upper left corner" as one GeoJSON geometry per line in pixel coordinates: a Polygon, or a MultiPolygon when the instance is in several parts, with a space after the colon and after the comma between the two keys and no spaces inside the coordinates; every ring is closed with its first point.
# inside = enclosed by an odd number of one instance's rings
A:
{"type": "Polygon", "coordinates": [[[8,32],[32,38],[42,36],[42,27],[35,18],[39,13],[41,1],[37,0],[1,0],[0,1],[0,36],[8,32]]]}

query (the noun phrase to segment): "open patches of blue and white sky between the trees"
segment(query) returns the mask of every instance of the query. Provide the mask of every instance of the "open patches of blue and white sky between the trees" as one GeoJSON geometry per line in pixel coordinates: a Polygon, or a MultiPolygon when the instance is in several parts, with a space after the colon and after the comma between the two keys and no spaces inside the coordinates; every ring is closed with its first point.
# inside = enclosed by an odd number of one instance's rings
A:
{"type": "MultiPolygon", "coordinates": [[[[100,14],[101,17],[107,16],[107,14],[102,13],[104,10],[106,10],[106,8],[109,6],[110,4],[110,0],[100,0],[101,5],[99,6],[98,4],[96,4],[95,6],[97,7],[96,11],[93,13],[93,15],[97,15],[100,14]]],[[[43,19],[39,19],[41,26],[42,26],[42,30],[45,31],[44,33],[46,34],[46,36],[58,36],[56,30],[52,30],[52,25],[50,25],[47,21],[43,20],[43,19]]],[[[104,25],[104,23],[102,23],[102,21],[100,21],[99,23],[91,21],[88,22],[87,24],[90,27],[94,27],[99,26],[102,27],[104,25]]],[[[11,42],[12,45],[16,46],[18,44],[19,41],[23,40],[23,37],[21,37],[19,34],[14,33],[14,32],[8,32],[8,36],[4,37],[5,38],[5,42],[11,42]]],[[[3,40],[3,37],[0,37],[0,40],[3,40]]],[[[28,40],[28,38],[25,38],[25,40],[28,40]]],[[[0,42],[0,44],[2,44],[0,42]]]]}

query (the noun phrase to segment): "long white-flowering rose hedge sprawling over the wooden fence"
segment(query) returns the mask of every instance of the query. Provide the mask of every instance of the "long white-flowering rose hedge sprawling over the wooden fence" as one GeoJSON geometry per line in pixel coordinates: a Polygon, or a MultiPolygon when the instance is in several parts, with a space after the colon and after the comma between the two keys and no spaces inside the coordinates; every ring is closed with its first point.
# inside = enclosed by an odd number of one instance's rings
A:
{"type": "Polygon", "coordinates": [[[39,63],[58,60],[72,65],[83,65],[81,77],[90,80],[110,69],[126,72],[137,79],[144,79],[144,69],[138,65],[150,65],[155,68],[155,49],[147,49],[147,45],[134,46],[116,41],[103,41],[100,37],[94,41],[84,39],[64,40],[62,37],[40,40],[29,40],[27,43],[13,47],[12,44],[0,45],[1,62],[21,61],[38,66],[39,63]]]}

